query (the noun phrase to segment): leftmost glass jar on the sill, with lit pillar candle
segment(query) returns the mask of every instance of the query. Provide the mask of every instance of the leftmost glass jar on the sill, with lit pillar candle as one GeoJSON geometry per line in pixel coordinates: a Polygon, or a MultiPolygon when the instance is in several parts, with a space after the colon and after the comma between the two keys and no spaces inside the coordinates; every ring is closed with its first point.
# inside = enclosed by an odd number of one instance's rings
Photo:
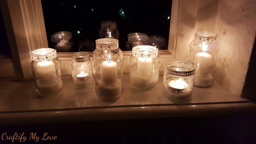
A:
{"type": "Polygon", "coordinates": [[[40,48],[30,52],[36,91],[42,96],[57,94],[62,89],[61,70],[56,50],[40,48]]]}

